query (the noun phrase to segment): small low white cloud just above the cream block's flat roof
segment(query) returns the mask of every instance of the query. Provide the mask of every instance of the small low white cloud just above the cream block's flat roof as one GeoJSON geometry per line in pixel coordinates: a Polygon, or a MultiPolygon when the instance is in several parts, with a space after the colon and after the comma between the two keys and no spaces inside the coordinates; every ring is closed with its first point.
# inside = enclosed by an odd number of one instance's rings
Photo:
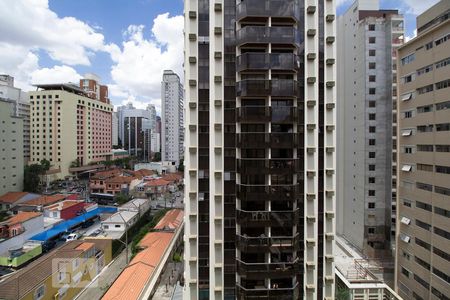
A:
{"type": "Polygon", "coordinates": [[[42,68],[31,73],[32,83],[66,83],[78,84],[82,76],[69,66],[54,66],[53,68],[42,68]]]}

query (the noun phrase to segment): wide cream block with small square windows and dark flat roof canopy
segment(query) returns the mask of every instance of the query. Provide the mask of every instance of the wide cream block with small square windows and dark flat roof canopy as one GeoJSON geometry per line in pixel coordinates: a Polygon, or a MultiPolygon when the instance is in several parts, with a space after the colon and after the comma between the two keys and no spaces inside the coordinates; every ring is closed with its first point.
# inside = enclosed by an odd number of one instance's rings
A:
{"type": "MultiPolygon", "coordinates": [[[[84,86],[84,79],[80,86],[84,86]]],[[[111,156],[113,106],[105,92],[86,92],[73,84],[40,84],[29,92],[31,104],[31,163],[47,159],[52,179],[70,175],[80,165],[111,156]]],[[[107,95],[107,92],[106,92],[107,95]]]]}

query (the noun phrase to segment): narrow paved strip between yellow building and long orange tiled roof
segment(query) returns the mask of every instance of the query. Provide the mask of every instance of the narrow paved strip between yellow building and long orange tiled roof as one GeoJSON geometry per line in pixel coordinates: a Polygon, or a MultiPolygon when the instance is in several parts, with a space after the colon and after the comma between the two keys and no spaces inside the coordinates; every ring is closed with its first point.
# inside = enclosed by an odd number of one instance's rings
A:
{"type": "MultiPolygon", "coordinates": [[[[130,251],[131,252],[131,251],[130,251]]],[[[84,289],[78,296],[77,300],[97,300],[101,299],[111,284],[119,277],[120,273],[126,266],[126,251],[123,250],[110,265],[102,270],[102,272],[92,281],[91,285],[84,289]]],[[[131,254],[131,253],[130,253],[131,254]]]]}

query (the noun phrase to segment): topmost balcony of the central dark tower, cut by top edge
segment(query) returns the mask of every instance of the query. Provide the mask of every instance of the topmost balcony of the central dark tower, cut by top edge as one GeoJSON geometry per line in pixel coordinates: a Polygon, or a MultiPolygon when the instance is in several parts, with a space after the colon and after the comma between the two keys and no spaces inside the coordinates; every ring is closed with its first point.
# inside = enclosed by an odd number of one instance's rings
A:
{"type": "Polygon", "coordinates": [[[300,17],[298,0],[245,0],[236,7],[236,17],[240,21],[247,17],[292,18],[300,17]]]}

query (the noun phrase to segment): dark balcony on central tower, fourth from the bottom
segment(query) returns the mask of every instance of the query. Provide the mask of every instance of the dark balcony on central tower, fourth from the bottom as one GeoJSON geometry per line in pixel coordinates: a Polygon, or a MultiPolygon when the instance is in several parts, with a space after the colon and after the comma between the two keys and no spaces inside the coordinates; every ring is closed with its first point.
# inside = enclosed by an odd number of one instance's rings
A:
{"type": "Polygon", "coordinates": [[[292,227],[298,224],[300,210],[289,211],[245,211],[236,209],[236,221],[246,227],[268,227],[272,225],[292,227]]]}

